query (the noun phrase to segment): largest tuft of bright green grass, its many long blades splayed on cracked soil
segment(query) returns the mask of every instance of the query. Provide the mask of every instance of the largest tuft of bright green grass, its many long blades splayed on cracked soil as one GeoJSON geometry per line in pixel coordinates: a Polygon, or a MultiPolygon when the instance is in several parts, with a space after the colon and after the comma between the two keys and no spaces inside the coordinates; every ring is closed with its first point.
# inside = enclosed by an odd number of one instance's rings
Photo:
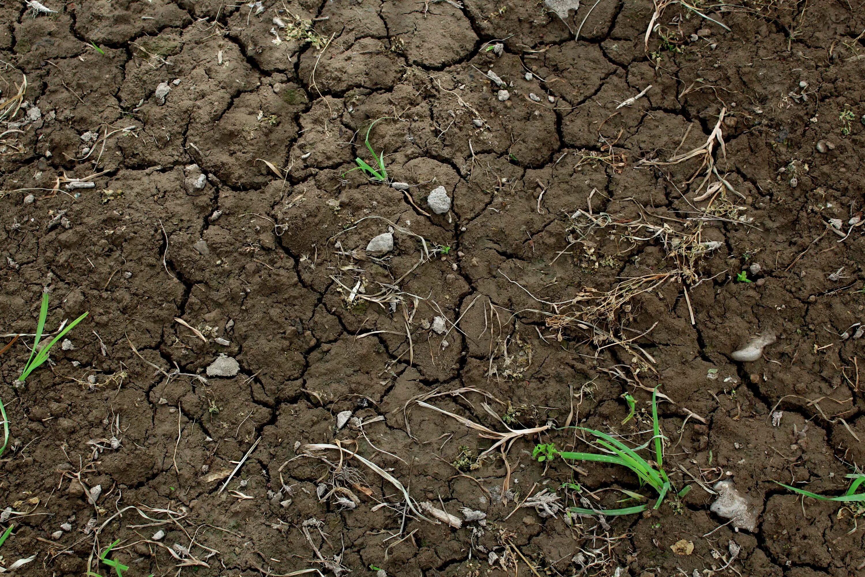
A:
{"type": "MultiPolygon", "coordinates": [[[[596,437],[595,443],[599,446],[603,453],[596,452],[566,452],[566,451],[557,451],[554,446],[546,445],[541,449],[541,446],[535,446],[535,452],[533,453],[534,458],[544,457],[544,460],[551,460],[548,455],[551,453],[553,455],[559,455],[561,458],[567,458],[574,461],[594,461],[598,463],[609,463],[610,465],[622,465],[627,467],[634,474],[637,475],[640,481],[640,485],[648,484],[652,489],[657,492],[657,501],[655,502],[655,506],[653,509],[657,509],[663,503],[664,497],[667,496],[667,493],[672,489],[672,484],[670,483],[670,478],[667,477],[667,472],[663,470],[663,435],[661,434],[661,427],[659,425],[657,419],[657,388],[652,393],[651,399],[651,416],[652,416],[652,440],[654,440],[654,449],[655,449],[655,463],[650,464],[649,461],[646,461],[644,458],[640,457],[637,451],[644,449],[646,446],[652,442],[650,440],[643,446],[638,446],[635,449],[631,449],[628,446],[625,446],[624,443],[619,441],[618,439],[614,439],[607,433],[602,433],[601,431],[595,431],[594,429],[588,429],[585,427],[577,427],[580,431],[584,433],[589,433],[596,437]]],[[[682,497],[690,490],[690,486],[686,486],[684,489],[679,491],[678,496],[682,497]]],[[[622,491],[631,498],[645,498],[639,493],[633,491],[622,491]]],[[[620,515],[632,515],[635,513],[642,513],[644,510],[648,509],[648,504],[637,505],[634,507],[625,507],[622,509],[606,509],[606,510],[592,510],[592,509],[583,509],[580,507],[572,507],[571,511],[573,513],[578,513],[580,515],[606,515],[606,516],[620,516],[620,515]]]]}

